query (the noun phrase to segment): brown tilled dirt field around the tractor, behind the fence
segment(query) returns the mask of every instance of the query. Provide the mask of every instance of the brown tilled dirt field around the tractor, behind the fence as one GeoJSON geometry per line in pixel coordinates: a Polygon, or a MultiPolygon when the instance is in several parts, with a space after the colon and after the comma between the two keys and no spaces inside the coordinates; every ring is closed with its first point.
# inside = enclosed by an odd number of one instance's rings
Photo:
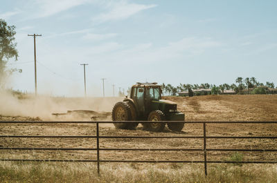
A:
{"type": "MultiPolygon", "coordinates": [[[[166,97],[178,104],[178,110],[186,114],[186,121],[277,121],[277,95],[219,95],[199,97],[166,97]]],[[[53,99],[59,105],[74,106],[84,104],[84,108],[96,104],[89,99],[53,99]],[[69,105],[70,103],[70,105],[69,105]]],[[[120,100],[120,99],[117,99],[120,100]]],[[[100,102],[98,99],[97,102],[100,102]]],[[[109,112],[116,102],[105,102],[109,112]]],[[[80,108],[76,108],[80,109],[80,108]]],[[[93,110],[97,106],[93,106],[93,110]]],[[[103,110],[102,110],[103,111],[103,110]]],[[[10,116],[1,115],[0,121],[49,120],[44,115],[10,116]]],[[[55,111],[52,111],[52,113],[55,111]]],[[[60,111],[59,111],[60,112],[60,111]]],[[[80,120],[71,116],[71,120],[80,120]]],[[[51,118],[55,120],[55,117],[51,118]]],[[[83,118],[83,120],[90,120],[83,118]]],[[[111,120],[110,116],[107,119],[111,120]]],[[[153,135],[153,136],[193,136],[202,135],[202,124],[186,124],[181,133],[172,133],[168,128],[161,133],[143,131],[139,125],[136,131],[115,129],[112,124],[101,124],[100,135],[153,135]]],[[[96,135],[94,124],[0,124],[0,135],[96,135]]],[[[276,124],[208,124],[207,135],[230,136],[277,136],[276,124]]],[[[0,147],[53,147],[53,148],[96,148],[96,139],[50,139],[50,138],[0,138],[0,147]]],[[[203,148],[202,139],[100,139],[101,148],[203,148]]],[[[207,148],[277,148],[276,139],[208,139],[207,148]]],[[[231,160],[232,152],[208,152],[208,160],[231,160]]],[[[243,160],[276,160],[277,153],[241,153],[243,160]]],[[[96,160],[94,151],[9,151],[1,150],[1,159],[73,159],[96,160]]],[[[100,151],[102,160],[203,160],[199,151],[100,151]]]]}

